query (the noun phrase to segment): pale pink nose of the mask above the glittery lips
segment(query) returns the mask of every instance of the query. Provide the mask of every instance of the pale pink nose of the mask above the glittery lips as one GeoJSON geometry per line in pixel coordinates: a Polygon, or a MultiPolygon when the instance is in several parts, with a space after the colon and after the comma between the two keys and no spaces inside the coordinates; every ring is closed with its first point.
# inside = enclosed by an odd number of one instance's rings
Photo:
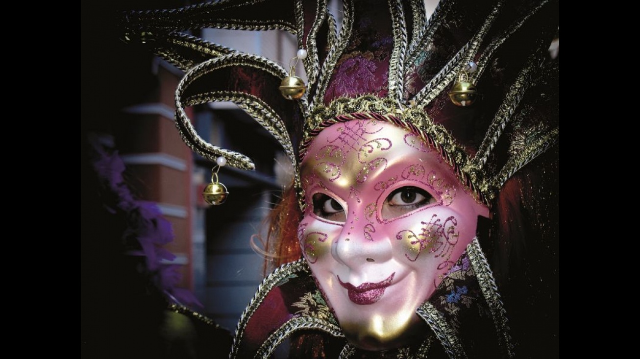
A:
{"type": "Polygon", "coordinates": [[[351,214],[332,246],[333,258],[351,269],[392,259],[391,238],[380,227],[351,214]]]}

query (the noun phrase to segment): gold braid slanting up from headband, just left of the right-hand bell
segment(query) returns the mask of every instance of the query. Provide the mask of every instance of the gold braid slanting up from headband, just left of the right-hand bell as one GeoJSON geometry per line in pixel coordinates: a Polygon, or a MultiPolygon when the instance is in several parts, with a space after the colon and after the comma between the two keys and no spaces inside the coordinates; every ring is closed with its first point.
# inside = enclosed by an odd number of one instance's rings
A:
{"type": "Polygon", "coordinates": [[[422,90],[420,90],[414,97],[415,102],[424,107],[435,99],[440,93],[451,83],[451,81],[458,75],[460,70],[463,70],[469,61],[471,61],[476,52],[478,51],[480,44],[482,43],[484,36],[489,32],[493,22],[498,17],[500,9],[502,8],[504,0],[500,0],[495,5],[492,12],[484,20],[484,24],[477,31],[476,35],[469,40],[469,42],[458,51],[445,67],[438,72],[436,76],[429,81],[428,84],[422,90]]]}

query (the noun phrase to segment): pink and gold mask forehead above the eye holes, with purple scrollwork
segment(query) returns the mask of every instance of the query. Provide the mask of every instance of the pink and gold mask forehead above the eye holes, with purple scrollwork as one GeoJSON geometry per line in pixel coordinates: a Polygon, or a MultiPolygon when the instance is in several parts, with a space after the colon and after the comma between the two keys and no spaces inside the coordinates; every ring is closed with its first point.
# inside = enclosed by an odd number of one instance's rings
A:
{"type": "Polygon", "coordinates": [[[324,129],[307,150],[301,177],[305,192],[321,186],[340,196],[353,196],[371,182],[390,186],[403,177],[420,177],[438,191],[446,190],[445,180],[456,181],[449,166],[417,134],[376,120],[353,120],[324,129]]]}

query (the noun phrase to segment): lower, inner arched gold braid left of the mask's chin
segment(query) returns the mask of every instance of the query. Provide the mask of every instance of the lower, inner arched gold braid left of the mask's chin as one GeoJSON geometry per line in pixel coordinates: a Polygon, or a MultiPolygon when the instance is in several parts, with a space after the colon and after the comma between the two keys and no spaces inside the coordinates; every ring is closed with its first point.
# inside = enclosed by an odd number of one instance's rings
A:
{"type": "Polygon", "coordinates": [[[258,349],[253,358],[269,358],[276,347],[282,343],[286,337],[291,335],[294,331],[304,329],[318,329],[333,335],[333,337],[344,337],[339,326],[329,323],[324,319],[313,317],[294,317],[289,319],[287,323],[282,324],[278,330],[269,335],[269,338],[262,343],[262,346],[260,346],[260,349],[258,349]]]}

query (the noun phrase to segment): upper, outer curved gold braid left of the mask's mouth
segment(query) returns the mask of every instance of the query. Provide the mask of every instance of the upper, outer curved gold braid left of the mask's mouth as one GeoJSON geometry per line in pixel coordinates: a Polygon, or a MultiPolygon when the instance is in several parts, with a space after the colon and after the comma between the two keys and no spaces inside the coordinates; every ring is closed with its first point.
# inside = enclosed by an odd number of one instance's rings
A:
{"type": "Polygon", "coordinates": [[[231,347],[230,358],[235,358],[237,355],[237,351],[239,349],[240,342],[244,335],[244,328],[246,327],[247,322],[251,319],[253,313],[257,310],[260,303],[267,296],[269,291],[273,289],[278,283],[282,282],[288,276],[295,273],[310,273],[309,267],[307,266],[307,262],[304,259],[296,260],[295,262],[290,262],[287,264],[283,264],[273,271],[270,275],[268,275],[262,283],[260,283],[258,290],[253,295],[253,298],[249,302],[249,305],[244,309],[243,314],[240,316],[240,320],[238,321],[238,325],[236,327],[236,335],[234,337],[234,344],[231,347]]]}

